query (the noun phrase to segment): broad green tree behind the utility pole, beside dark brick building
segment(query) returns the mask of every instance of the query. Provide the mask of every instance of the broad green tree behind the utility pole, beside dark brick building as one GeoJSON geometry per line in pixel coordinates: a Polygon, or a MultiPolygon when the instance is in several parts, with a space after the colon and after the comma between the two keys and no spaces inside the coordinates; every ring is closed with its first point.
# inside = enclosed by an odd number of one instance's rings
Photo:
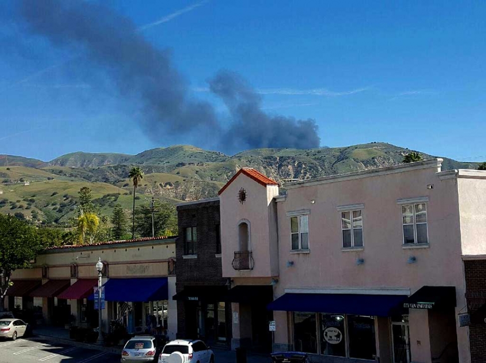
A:
{"type": "MultiPolygon", "coordinates": [[[[135,210],[136,231],[142,237],[152,237],[152,208],[142,205],[135,210]]],[[[177,212],[169,203],[163,203],[154,213],[155,236],[177,235],[177,212]]]]}

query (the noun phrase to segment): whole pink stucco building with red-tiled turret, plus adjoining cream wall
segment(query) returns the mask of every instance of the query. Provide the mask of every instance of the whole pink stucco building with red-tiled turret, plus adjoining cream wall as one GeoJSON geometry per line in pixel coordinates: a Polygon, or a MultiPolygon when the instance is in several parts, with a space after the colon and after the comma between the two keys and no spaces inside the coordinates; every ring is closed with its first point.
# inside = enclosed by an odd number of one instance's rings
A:
{"type": "Polygon", "coordinates": [[[219,196],[232,347],[470,362],[463,259],[486,255],[486,172],[441,161],[280,190],[240,170],[219,196]]]}

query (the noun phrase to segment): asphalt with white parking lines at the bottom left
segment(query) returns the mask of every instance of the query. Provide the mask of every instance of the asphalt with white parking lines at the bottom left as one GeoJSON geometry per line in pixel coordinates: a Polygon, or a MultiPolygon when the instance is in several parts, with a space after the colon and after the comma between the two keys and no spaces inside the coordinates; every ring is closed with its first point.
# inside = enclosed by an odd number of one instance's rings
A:
{"type": "Polygon", "coordinates": [[[47,340],[19,338],[16,341],[0,340],[0,362],[119,363],[120,355],[47,340]]]}

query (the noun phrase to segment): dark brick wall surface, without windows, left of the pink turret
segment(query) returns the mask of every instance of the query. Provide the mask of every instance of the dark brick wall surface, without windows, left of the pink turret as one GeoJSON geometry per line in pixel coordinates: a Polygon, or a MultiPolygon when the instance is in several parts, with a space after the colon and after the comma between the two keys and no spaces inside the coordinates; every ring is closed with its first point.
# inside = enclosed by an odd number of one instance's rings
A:
{"type": "MultiPolygon", "coordinates": [[[[225,286],[221,258],[216,254],[216,226],[220,223],[219,200],[177,206],[179,236],[175,244],[176,290],[184,286],[225,286]],[[184,259],[184,233],[186,227],[197,228],[197,258],[184,259]]],[[[177,301],[177,336],[184,337],[188,324],[194,324],[194,303],[177,301]],[[191,311],[187,311],[191,309],[191,311]],[[187,316],[186,316],[187,315],[187,316]]],[[[231,304],[226,303],[227,341],[231,341],[231,304]]]]}

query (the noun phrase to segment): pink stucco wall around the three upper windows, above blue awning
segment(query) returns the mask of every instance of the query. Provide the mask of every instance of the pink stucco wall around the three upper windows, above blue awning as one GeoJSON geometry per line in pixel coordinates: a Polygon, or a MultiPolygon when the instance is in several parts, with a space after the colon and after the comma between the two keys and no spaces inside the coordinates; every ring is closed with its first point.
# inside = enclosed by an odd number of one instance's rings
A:
{"type": "MultiPolygon", "coordinates": [[[[285,201],[277,204],[277,296],[285,288],[397,287],[414,293],[423,285],[444,285],[456,286],[457,311],[464,306],[457,185],[455,179],[439,180],[436,165],[288,189],[285,201]],[[431,184],[433,189],[428,189],[431,184]],[[401,205],[397,200],[417,197],[428,198],[429,246],[404,248],[401,205]],[[341,212],[337,207],[361,203],[364,247],[342,250],[341,212]],[[286,213],[301,209],[310,210],[307,254],[290,251],[290,217],[286,213]],[[415,263],[407,263],[410,256],[416,258],[415,263]],[[357,265],[358,258],[364,259],[362,265],[357,265]],[[287,267],[287,261],[294,265],[287,267]]],[[[461,361],[467,361],[467,333],[465,329],[457,331],[459,356],[461,361]]]]}

